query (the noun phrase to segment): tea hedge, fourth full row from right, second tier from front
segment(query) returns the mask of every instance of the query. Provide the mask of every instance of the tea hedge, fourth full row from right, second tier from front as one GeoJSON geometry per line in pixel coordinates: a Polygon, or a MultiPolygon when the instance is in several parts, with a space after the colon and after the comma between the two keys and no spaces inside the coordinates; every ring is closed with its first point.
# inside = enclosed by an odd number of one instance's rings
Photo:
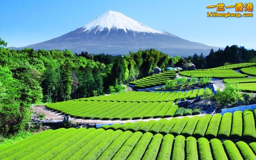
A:
{"type": "Polygon", "coordinates": [[[221,114],[214,114],[209,122],[208,128],[205,133],[206,138],[216,138],[219,130],[221,114]]]}

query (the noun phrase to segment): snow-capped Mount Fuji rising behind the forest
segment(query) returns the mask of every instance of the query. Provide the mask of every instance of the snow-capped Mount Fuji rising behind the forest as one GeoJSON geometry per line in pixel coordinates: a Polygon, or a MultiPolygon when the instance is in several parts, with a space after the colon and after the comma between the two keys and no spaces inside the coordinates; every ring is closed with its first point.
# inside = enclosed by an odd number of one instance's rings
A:
{"type": "Polygon", "coordinates": [[[218,50],[218,47],[190,42],[169,32],[154,30],[115,11],[108,11],[57,38],[21,48],[70,49],[78,54],[82,51],[94,54],[128,54],[129,51],[136,52],[140,48],[156,48],[169,55],[180,56],[201,52],[208,54],[211,48],[218,50]]]}

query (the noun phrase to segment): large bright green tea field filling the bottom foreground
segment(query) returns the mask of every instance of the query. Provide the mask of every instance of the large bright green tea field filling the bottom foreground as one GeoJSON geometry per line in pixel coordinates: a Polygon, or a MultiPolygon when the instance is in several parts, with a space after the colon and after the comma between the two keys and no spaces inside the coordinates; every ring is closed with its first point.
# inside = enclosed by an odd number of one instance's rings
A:
{"type": "Polygon", "coordinates": [[[255,160],[256,142],[69,128],[46,130],[0,149],[5,160],[255,160]],[[226,152],[225,152],[226,151],[226,152]]]}

